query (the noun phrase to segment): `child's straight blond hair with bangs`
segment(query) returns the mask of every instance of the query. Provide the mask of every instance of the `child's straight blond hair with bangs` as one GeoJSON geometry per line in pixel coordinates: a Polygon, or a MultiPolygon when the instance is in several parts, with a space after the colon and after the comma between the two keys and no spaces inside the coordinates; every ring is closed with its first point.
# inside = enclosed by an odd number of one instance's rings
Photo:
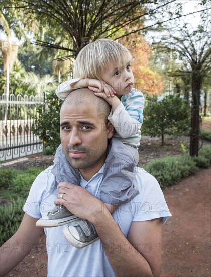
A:
{"type": "Polygon", "coordinates": [[[94,78],[101,80],[104,70],[133,60],[129,50],[110,39],[98,39],[86,45],[78,54],[73,67],[73,78],[94,78]]]}

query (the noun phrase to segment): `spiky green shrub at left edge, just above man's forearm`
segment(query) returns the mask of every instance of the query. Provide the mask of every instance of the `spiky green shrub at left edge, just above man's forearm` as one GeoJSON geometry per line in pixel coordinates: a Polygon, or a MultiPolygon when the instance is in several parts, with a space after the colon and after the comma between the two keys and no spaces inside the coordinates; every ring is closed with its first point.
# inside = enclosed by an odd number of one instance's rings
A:
{"type": "Polygon", "coordinates": [[[6,242],[18,229],[24,212],[22,207],[26,199],[18,197],[11,200],[9,205],[0,206],[0,245],[6,242]]]}

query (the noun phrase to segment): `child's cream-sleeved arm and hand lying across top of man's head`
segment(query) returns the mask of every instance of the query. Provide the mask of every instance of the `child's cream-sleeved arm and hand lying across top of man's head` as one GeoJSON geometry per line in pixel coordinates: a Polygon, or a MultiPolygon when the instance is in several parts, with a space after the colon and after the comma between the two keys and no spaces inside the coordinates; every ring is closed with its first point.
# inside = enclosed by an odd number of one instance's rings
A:
{"type": "Polygon", "coordinates": [[[56,95],[61,100],[64,100],[73,90],[80,88],[97,88],[98,91],[104,91],[107,96],[114,96],[116,93],[109,84],[101,82],[97,79],[73,78],[61,83],[56,89],[56,95]]]}

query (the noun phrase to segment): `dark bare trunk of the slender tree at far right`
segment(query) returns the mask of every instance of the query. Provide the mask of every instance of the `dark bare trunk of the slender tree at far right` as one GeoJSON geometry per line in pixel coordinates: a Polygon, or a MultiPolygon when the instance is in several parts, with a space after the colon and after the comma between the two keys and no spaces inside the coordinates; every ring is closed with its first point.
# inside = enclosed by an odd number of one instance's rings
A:
{"type": "Polygon", "coordinates": [[[190,131],[190,156],[198,156],[199,145],[199,111],[201,74],[199,70],[192,73],[192,105],[191,105],[191,131],[190,131]]]}

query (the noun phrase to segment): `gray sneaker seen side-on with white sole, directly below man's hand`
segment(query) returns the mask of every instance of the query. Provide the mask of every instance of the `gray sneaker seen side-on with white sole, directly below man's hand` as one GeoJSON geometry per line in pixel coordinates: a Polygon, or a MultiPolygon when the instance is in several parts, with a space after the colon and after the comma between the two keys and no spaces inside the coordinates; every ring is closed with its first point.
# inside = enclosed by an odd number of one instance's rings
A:
{"type": "Polygon", "coordinates": [[[36,222],[39,227],[56,227],[79,219],[73,215],[65,206],[55,206],[47,216],[36,222]]]}

